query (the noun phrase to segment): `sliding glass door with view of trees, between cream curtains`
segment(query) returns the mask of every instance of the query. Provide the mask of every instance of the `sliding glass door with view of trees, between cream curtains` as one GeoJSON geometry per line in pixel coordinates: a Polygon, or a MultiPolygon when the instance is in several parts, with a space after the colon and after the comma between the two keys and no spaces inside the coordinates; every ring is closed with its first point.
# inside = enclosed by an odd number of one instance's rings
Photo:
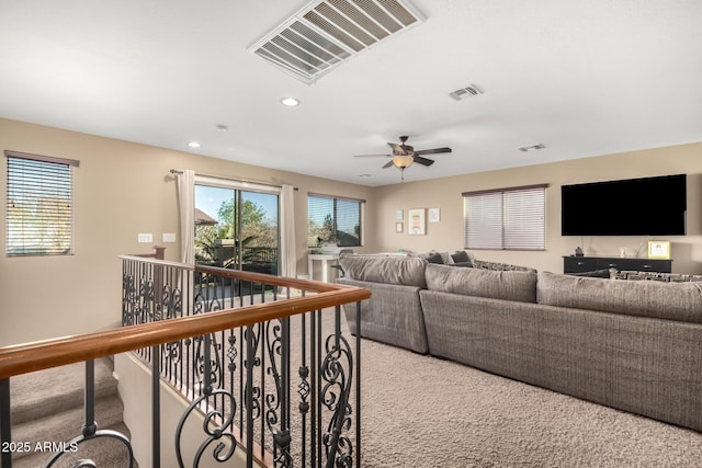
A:
{"type": "Polygon", "coordinates": [[[195,183],[195,263],[278,275],[279,193],[195,183]]]}

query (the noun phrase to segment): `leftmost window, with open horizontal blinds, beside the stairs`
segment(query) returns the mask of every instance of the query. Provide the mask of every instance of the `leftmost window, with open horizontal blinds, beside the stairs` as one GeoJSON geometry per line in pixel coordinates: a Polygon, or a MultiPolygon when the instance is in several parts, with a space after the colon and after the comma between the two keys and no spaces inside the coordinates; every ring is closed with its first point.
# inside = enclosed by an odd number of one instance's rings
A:
{"type": "Polygon", "coordinates": [[[78,161],[4,151],[7,254],[73,253],[71,170],[78,161]]]}

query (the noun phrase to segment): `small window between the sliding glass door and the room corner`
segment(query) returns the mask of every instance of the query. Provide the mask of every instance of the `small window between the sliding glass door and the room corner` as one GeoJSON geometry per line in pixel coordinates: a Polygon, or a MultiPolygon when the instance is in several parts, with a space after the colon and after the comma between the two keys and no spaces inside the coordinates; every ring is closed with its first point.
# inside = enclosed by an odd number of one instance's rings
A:
{"type": "Polygon", "coordinates": [[[363,199],[307,194],[307,246],[361,246],[363,199]]]}

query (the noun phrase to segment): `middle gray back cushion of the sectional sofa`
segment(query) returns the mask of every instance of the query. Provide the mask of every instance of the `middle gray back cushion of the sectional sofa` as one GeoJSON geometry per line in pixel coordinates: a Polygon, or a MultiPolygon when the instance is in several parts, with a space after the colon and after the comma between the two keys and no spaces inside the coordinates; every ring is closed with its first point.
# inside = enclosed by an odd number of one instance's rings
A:
{"type": "Polygon", "coordinates": [[[427,287],[431,290],[479,296],[491,299],[536,301],[536,273],[456,269],[427,265],[427,287]]]}

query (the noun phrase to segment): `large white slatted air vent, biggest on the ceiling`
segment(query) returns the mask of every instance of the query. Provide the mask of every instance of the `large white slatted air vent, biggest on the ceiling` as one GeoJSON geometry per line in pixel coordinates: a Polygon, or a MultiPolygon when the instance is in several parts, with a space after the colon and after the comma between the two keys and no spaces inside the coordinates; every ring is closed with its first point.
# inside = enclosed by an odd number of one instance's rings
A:
{"type": "Polygon", "coordinates": [[[400,0],[315,0],[248,52],[313,83],[344,60],[421,21],[400,0]]]}

